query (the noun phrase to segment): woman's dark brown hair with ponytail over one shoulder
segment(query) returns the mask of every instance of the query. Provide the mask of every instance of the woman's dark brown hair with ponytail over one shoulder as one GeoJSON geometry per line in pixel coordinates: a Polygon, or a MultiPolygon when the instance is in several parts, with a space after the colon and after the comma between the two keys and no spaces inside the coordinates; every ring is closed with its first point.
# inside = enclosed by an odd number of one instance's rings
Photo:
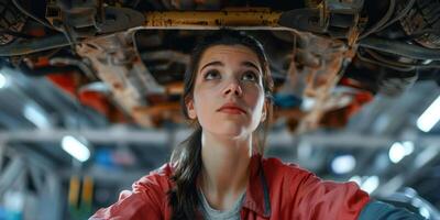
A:
{"type": "MultiPolygon", "coordinates": [[[[262,136],[256,145],[256,150],[260,154],[264,153],[264,142],[266,139],[266,132],[272,119],[272,92],[273,92],[273,79],[271,77],[270,66],[265,56],[263,46],[255,38],[238,31],[221,30],[210,35],[205,36],[194,48],[191,54],[191,61],[188,69],[185,73],[184,79],[184,94],[182,96],[182,110],[184,116],[189,119],[186,103],[193,99],[194,85],[197,77],[197,70],[199,61],[204,52],[215,45],[243,45],[253,51],[260,61],[263,69],[263,88],[266,98],[266,120],[263,124],[258,125],[255,132],[262,133],[253,136],[262,136]]],[[[197,217],[197,178],[202,167],[201,162],[201,127],[197,120],[193,121],[195,131],[187,140],[180,143],[172,154],[172,163],[175,165],[175,172],[172,176],[172,180],[175,183],[175,187],[168,193],[169,205],[173,208],[173,220],[182,219],[196,219],[197,217]]],[[[255,147],[255,146],[254,146],[255,147]]]]}

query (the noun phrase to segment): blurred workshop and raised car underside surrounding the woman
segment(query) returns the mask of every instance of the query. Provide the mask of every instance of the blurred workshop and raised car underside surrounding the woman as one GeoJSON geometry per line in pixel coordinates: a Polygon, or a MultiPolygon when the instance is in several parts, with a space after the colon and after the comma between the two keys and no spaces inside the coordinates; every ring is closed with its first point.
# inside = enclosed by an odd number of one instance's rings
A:
{"type": "Polygon", "coordinates": [[[440,219],[440,1],[367,2],[0,0],[0,220],[87,219],[167,163],[219,26],[267,52],[266,156],[440,219]]]}

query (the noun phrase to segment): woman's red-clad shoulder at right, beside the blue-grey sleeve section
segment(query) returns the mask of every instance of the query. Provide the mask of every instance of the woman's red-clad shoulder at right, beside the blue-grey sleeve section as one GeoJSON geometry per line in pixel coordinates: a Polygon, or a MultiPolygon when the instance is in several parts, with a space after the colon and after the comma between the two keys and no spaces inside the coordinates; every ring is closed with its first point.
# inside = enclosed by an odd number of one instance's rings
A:
{"type": "Polygon", "coordinates": [[[264,174],[275,198],[284,198],[298,219],[358,219],[370,197],[354,183],[322,180],[296,164],[263,160],[264,174]]]}

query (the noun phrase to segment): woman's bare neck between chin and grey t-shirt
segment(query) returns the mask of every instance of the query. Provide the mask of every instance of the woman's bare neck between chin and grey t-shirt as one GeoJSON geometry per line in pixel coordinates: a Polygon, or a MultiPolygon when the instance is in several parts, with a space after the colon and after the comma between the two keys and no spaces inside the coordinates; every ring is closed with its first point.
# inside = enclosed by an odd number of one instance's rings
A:
{"type": "Polygon", "coordinates": [[[201,145],[201,189],[213,208],[229,208],[248,185],[252,136],[219,138],[204,131],[201,145]]]}

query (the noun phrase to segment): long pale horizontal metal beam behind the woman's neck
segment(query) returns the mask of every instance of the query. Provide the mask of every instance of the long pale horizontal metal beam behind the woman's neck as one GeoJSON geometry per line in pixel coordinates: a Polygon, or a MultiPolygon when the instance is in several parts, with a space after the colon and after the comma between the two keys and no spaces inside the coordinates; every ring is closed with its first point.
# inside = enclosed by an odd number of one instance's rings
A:
{"type": "MultiPolygon", "coordinates": [[[[125,129],[102,129],[102,130],[21,130],[0,132],[0,142],[26,142],[44,143],[59,142],[66,135],[82,136],[91,143],[113,144],[113,143],[148,143],[154,145],[168,145],[172,135],[175,135],[176,143],[179,143],[190,134],[190,129],[175,130],[170,134],[168,130],[125,130],[125,129]]],[[[332,132],[326,134],[304,134],[294,135],[288,131],[271,132],[267,144],[271,146],[293,147],[295,140],[300,139],[312,146],[334,146],[334,147],[369,147],[381,148],[389,147],[398,140],[414,141],[418,145],[433,145],[440,147],[440,136],[418,135],[406,140],[400,136],[391,135],[364,135],[353,132],[332,132]]]]}

